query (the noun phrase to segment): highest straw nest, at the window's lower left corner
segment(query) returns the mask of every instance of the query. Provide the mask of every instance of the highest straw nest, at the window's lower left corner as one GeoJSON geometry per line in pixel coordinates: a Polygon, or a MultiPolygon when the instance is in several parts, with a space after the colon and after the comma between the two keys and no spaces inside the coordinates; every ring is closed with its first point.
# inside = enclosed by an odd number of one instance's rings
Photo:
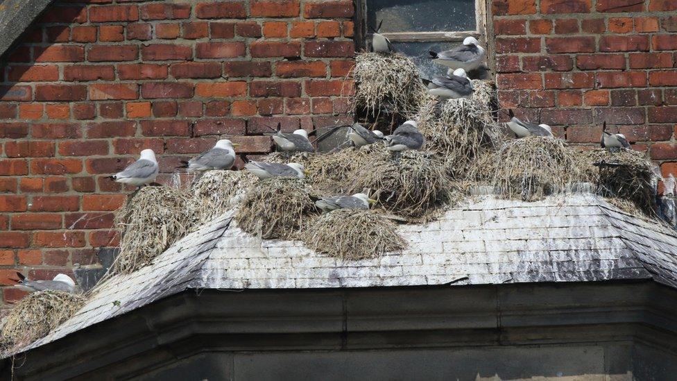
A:
{"type": "Polygon", "coordinates": [[[402,118],[418,110],[427,89],[411,58],[402,53],[363,52],[355,61],[354,101],[358,110],[375,119],[379,119],[382,112],[402,118]]]}

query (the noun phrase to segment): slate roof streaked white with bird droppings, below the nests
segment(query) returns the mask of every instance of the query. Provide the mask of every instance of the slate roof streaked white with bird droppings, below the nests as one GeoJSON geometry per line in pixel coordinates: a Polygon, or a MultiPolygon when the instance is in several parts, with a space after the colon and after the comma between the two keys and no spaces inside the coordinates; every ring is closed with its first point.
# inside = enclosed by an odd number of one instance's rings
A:
{"type": "Polygon", "coordinates": [[[261,240],[227,213],[153,264],[101,287],[73,318],[24,350],[185,289],[307,289],[655,280],[677,287],[677,232],[592,194],[524,203],[476,197],[425,226],[402,253],[339,261],[301,242],[261,240]],[[117,302],[118,303],[114,303],[117,302]]]}

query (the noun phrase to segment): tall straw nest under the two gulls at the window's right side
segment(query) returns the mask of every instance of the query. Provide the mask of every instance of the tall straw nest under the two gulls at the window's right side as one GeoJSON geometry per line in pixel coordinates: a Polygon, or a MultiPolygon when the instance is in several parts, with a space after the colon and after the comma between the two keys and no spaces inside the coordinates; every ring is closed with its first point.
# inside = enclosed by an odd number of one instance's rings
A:
{"type": "Polygon", "coordinates": [[[486,81],[472,81],[470,99],[442,100],[427,97],[414,119],[425,136],[424,148],[447,161],[449,174],[463,178],[472,162],[484,151],[494,149],[499,135],[492,112],[495,90],[486,81]]]}

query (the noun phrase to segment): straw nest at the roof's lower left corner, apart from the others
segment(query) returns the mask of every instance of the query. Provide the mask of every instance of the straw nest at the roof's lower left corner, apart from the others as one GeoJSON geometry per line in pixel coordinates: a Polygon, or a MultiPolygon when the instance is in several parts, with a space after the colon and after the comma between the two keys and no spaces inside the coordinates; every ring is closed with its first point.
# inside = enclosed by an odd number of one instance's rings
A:
{"type": "Polygon", "coordinates": [[[2,328],[2,353],[45,337],[85,304],[85,297],[64,291],[37,291],[19,300],[2,328]]]}

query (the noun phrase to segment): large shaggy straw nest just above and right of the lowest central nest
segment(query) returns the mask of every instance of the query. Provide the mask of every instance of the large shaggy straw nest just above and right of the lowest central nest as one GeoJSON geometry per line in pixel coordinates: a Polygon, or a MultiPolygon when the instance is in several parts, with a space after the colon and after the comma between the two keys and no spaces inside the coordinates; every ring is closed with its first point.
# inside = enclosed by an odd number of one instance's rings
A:
{"type": "Polygon", "coordinates": [[[386,210],[410,219],[429,217],[455,189],[444,160],[427,151],[374,155],[348,175],[344,187],[346,194],[371,189],[386,210]]]}

